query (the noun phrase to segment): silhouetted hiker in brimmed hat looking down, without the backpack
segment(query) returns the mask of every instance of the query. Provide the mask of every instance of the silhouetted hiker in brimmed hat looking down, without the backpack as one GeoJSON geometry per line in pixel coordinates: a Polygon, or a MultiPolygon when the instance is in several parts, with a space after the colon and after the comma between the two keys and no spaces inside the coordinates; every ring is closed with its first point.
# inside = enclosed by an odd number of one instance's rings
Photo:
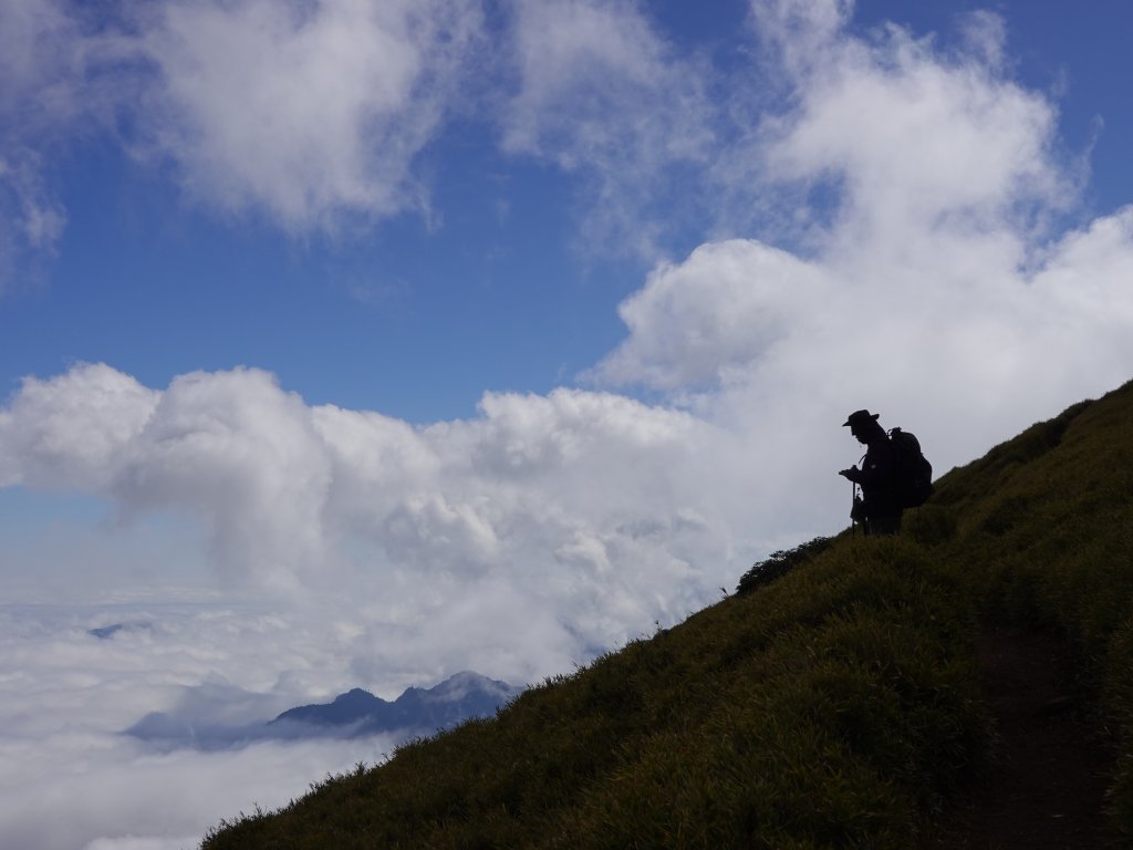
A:
{"type": "Polygon", "coordinates": [[[842,427],[849,427],[858,442],[867,447],[861,469],[852,466],[838,470],[838,475],[855,485],[850,518],[860,522],[867,535],[896,534],[901,530],[901,513],[904,510],[897,460],[888,434],[877,422],[879,415],[854,410],[842,423],[842,427]],[[858,487],[861,487],[860,498],[858,487]]]}

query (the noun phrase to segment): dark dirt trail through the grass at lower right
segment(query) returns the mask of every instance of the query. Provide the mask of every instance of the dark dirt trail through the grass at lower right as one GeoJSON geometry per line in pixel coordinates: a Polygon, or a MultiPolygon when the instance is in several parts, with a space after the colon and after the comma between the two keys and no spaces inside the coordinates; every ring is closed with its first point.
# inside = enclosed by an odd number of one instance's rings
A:
{"type": "Polygon", "coordinates": [[[995,722],[987,776],[923,850],[1100,850],[1117,845],[1105,815],[1111,756],[1091,737],[1066,646],[989,627],[977,644],[995,722]]]}

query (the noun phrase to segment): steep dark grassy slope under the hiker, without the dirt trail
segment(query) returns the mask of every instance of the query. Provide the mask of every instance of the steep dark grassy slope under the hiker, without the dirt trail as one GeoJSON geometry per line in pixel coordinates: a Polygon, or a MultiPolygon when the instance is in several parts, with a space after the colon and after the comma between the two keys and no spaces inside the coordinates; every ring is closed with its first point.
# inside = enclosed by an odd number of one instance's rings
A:
{"type": "Polygon", "coordinates": [[[953,470],[902,538],[842,537],[203,847],[908,848],[980,765],[980,615],[1081,648],[1133,833],[1131,515],[1133,384],[953,470]]]}

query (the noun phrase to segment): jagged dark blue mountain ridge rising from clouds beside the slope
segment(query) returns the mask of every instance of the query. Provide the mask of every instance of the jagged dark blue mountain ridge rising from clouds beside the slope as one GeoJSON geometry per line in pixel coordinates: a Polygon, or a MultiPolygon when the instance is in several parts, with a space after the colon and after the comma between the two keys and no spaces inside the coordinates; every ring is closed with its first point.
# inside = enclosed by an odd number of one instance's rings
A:
{"type": "Polygon", "coordinates": [[[269,723],[339,728],[349,737],[401,729],[450,729],[466,720],[485,717],[514,699],[523,688],[479,673],[457,673],[434,688],[408,688],[387,702],[361,688],[340,694],[331,703],[290,708],[269,723]]]}

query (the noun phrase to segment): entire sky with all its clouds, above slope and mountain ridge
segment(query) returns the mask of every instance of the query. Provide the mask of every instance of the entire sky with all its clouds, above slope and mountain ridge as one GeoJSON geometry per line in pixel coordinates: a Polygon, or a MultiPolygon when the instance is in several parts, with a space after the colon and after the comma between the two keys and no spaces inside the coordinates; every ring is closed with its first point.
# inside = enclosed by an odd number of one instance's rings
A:
{"type": "Polygon", "coordinates": [[[382,753],[155,758],[150,711],[537,681],[680,621],[845,527],[850,410],[944,473],[1127,381],[1131,32],[0,0],[0,844],[184,847],[382,753]]]}

